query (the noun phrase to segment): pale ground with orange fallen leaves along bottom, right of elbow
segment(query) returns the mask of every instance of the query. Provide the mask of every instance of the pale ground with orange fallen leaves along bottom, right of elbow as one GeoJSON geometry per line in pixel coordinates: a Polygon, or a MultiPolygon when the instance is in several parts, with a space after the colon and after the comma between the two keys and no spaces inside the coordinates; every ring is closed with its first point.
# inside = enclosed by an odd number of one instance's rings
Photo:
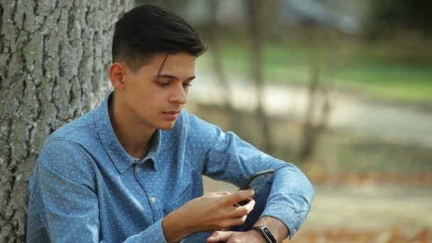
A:
{"type": "MultiPolygon", "coordinates": [[[[234,192],[204,178],[205,193],[234,192]]],[[[431,187],[419,184],[314,183],[306,222],[286,242],[431,242],[431,187]]]]}

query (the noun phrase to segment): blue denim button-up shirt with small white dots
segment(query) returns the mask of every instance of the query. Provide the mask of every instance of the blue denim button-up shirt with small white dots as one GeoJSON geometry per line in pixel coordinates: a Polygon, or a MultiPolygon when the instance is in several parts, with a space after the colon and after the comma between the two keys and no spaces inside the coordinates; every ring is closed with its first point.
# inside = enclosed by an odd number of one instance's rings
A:
{"type": "Polygon", "coordinates": [[[173,129],[156,130],[145,158],[133,158],[112,129],[109,97],[45,141],[29,182],[27,242],[166,242],[161,220],[202,195],[202,175],[241,186],[269,168],[262,216],[284,222],[291,237],[306,219],[313,188],[293,164],[185,109],[173,129]]]}

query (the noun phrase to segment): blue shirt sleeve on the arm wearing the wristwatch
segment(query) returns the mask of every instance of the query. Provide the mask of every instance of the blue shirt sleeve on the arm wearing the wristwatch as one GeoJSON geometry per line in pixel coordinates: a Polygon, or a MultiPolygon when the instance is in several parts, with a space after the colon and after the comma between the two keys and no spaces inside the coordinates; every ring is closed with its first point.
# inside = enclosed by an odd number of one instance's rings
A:
{"type": "Polygon", "coordinates": [[[292,163],[286,163],[259,151],[232,132],[189,115],[188,139],[195,153],[205,154],[202,172],[215,180],[225,180],[241,187],[250,175],[273,168],[271,193],[261,216],[276,217],[288,227],[293,237],[306,220],[314,191],[306,175],[292,163]]]}

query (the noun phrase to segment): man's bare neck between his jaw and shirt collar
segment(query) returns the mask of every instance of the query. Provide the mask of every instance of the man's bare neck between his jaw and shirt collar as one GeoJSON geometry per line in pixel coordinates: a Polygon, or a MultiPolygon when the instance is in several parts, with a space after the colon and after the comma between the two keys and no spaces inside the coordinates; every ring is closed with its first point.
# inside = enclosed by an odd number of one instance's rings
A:
{"type": "Polygon", "coordinates": [[[134,158],[144,158],[150,149],[151,136],[156,129],[136,122],[136,119],[127,112],[128,109],[121,109],[114,99],[114,94],[108,103],[108,111],[112,129],[124,150],[134,158]]]}

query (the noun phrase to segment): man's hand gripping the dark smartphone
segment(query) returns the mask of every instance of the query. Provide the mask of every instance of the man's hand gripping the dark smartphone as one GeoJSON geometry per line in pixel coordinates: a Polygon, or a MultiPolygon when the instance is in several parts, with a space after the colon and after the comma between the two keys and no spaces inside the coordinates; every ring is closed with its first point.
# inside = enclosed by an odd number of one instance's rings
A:
{"type": "Polygon", "coordinates": [[[242,225],[249,212],[254,209],[254,190],[239,190],[236,193],[208,193],[186,202],[162,220],[164,237],[168,242],[178,242],[194,232],[214,232],[242,225]],[[246,205],[235,203],[247,200],[246,205]]]}

